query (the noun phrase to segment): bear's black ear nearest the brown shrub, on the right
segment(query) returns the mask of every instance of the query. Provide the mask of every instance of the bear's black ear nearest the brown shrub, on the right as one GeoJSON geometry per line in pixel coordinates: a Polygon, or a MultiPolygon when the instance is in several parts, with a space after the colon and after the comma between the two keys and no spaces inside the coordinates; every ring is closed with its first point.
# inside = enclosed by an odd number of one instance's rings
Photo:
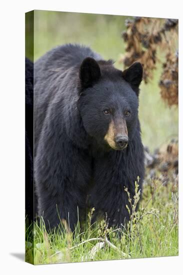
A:
{"type": "Polygon", "coordinates": [[[143,76],[143,67],[141,63],[134,62],[130,67],[122,72],[123,78],[130,83],[136,94],[139,93],[139,84],[143,76]]]}

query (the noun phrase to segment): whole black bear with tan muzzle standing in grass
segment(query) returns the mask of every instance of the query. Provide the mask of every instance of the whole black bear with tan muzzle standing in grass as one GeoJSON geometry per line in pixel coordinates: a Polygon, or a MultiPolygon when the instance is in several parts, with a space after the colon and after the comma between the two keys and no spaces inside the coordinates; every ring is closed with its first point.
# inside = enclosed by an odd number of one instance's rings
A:
{"type": "MultiPolygon", "coordinates": [[[[114,68],[90,48],[66,44],[34,64],[34,155],[38,214],[71,230],[87,207],[109,226],[129,219],[127,187],[144,176],[138,120],[142,66],[114,68]]],[[[93,219],[94,221],[94,219],[93,219]]]]}

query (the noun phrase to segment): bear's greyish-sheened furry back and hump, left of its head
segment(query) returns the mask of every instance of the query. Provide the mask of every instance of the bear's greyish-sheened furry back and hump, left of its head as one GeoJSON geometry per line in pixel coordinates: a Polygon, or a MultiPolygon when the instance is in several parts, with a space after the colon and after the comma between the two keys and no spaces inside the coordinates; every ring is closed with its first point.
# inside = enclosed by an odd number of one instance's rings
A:
{"type": "MultiPolygon", "coordinates": [[[[34,148],[39,139],[42,125],[49,108],[55,101],[60,106],[75,104],[76,83],[82,60],[87,57],[96,60],[101,56],[89,47],[65,44],[51,49],[34,63],[34,148]]],[[[67,111],[69,111],[69,108],[67,111]]],[[[63,108],[60,107],[60,112],[63,108]]],[[[66,114],[65,114],[66,115],[66,114]]]]}

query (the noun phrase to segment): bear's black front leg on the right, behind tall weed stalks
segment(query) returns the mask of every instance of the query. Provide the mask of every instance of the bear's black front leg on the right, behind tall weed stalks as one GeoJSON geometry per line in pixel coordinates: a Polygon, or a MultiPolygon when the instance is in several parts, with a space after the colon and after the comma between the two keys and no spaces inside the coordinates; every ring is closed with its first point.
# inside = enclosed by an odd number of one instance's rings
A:
{"type": "Polygon", "coordinates": [[[104,216],[107,215],[109,227],[123,227],[130,219],[129,197],[133,204],[137,177],[140,178],[138,184],[141,189],[143,169],[141,164],[136,163],[137,160],[132,162],[128,155],[127,150],[111,151],[96,157],[94,161],[95,186],[91,195],[92,207],[95,208],[94,216],[103,212],[104,216]]]}

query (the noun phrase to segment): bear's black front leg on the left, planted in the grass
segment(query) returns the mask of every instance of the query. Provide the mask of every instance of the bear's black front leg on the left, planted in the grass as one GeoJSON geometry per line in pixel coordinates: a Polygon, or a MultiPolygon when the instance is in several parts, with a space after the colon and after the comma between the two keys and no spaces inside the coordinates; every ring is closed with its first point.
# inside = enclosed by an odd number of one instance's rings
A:
{"type": "Polygon", "coordinates": [[[56,147],[50,144],[47,147],[44,142],[39,144],[35,156],[35,184],[38,215],[43,217],[46,229],[66,221],[74,230],[85,209],[90,170],[89,157],[71,143],[60,142],[56,147]]]}

